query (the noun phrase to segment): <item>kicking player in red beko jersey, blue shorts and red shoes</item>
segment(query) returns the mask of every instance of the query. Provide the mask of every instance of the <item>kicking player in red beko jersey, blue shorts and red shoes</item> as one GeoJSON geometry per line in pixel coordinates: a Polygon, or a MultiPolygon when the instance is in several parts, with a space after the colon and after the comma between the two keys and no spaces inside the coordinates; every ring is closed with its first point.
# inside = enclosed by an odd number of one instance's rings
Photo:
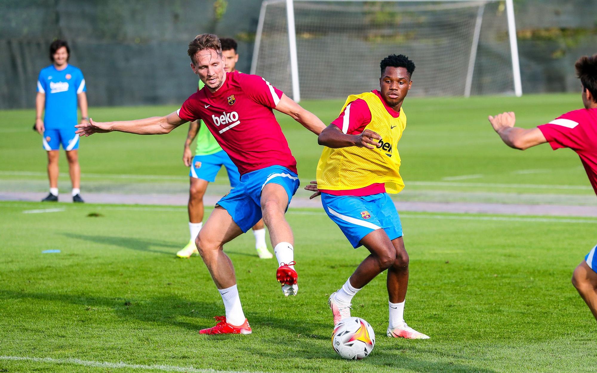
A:
{"type": "Polygon", "coordinates": [[[296,160],[273,110],[285,113],[315,134],[325,128],[282,91],[257,75],[224,71],[220,40],[216,35],[196,36],[187,51],[191,69],[205,87],[190,95],[176,112],[136,121],[82,124],[81,136],[121,131],[167,134],[188,121],[202,119],[241,174],[240,183],[220,199],[195,243],[220,291],[226,316],[201,334],[250,334],[236,288],[234,267],[224,254],[226,242],[251,229],[263,217],[279,263],[276,278],[285,296],[296,295],[293,232],[284,218],[298,188],[296,160]]]}

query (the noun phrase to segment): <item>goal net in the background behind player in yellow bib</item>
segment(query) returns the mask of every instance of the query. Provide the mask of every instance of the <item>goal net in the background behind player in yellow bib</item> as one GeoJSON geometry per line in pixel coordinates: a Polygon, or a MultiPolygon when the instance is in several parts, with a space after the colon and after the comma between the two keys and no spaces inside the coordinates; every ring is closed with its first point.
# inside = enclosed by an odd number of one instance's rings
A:
{"type": "MultiPolygon", "coordinates": [[[[504,1],[294,0],[293,10],[301,98],[373,90],[389,54],[416,65],[409,95],[515,93],[504,1]]],[[[289,14],[287,1],[263,2],[251,72],[297,97],[289,14]]]]}

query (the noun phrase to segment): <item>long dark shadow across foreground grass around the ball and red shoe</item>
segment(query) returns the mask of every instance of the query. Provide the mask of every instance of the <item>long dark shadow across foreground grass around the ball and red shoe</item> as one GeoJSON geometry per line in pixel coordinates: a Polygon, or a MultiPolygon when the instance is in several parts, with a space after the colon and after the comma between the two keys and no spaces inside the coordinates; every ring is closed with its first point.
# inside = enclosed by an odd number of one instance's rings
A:
{"type": "MultiPolygon", "coordinates": [[[[113,315],[124,320],[185,328],[192,332],[198,332],[199,329],[213,326],[214,320],[211,317],[223,313],[223,306],[220,302],[189,301],[174,295],[152,298],[125,298],[84,294],[0,291],[0,300],[2,299],[37,300],[54,303],[54,305],[57,303],[74,304],[89,312],[105,313],[106,309],[109,309],[108,312],[113,312],[113,315]],[[191,319],[181,320],[183,317],[190,317],[191,319]]],[[[334,362],[334,365],[338,368],[337,371],[353,371],[354,368],[352,367],[358,364],[373,372],[396,371],[401,368],[414,372],[494,373],[490,369],[472,366],[473,362],[471,362],[471,365],[451,362],[450,360],[462,362],[463,360],[470,360],[471,357],[438,350],[432,340],[392,340],[386,338],[383,334],[377,335],[377,344],[371,356],[361,362],[347,361],[338,357],[329,346],[331,326],[328,322],[313,320],[306,322],[304,319],[293,315],[278,317],[267,312],[250,312],[247,313],[247,317],[250,318],[254,332],[256,332],[256,335],[252,336],[256,338],[255,343],[248,346],[243,344],[242,347],[234,344],[235,349],[243,350],[253,356],[259,356],[261,359],[273,360],[279,360],[281,354],[286,353],[288,357],[287,368],[291,366],[290,370],[293,371],[313,371],[313,365],[316,366],[321,361],[337,360],[337,363],[334,362]],[[277,330],[272,333],[272,331],[264,332],[261,328],[277,330]],[[322,334],[324,330],[327,332],[322,334]],[[281,352],[277,348],[272,349],[268,346],[291,346],[291,349],[288,350],[287,347],[284,347],[284,352],[281,352]],[[329,348],[325,348],[325,346],[329,348]],[[418,356],[424,356],[429,360],[421,359],[418,356]]],[[[80,321],[87,322],[84,319],[80,321]]],[[[238,338],[238,336],[211,335],[199,337],[197,335],[197,338],[199,338],[196,341],[198,344],[202,343],[203,338],[209,338],[210,341],[218,344],[222,343],[221,347],[226,348],[227,344],[234,343],[235,338],[238,338]]],[[[288,369],[285,368],[284,370],[287,371],[288,369]]]]}

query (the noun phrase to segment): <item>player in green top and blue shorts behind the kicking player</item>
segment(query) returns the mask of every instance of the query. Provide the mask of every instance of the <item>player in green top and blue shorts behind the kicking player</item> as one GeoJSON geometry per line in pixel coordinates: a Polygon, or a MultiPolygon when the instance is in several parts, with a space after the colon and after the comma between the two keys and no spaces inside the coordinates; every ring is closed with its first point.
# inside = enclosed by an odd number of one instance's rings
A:
{"type": "MultiPolygon", "coordinates": [[[[234,39],[220,39],[222,45],[222,58],[224,59],[224,69],[226,72],[236,71],[235,66],[238,62],[237,44],[234,39]]],[[[199,90],[203,88],[203,82],[199,81],[199,90]]],[[[186,167],[190,167],[190,189],[189,189],[189,231],[190,240],[183,249],[176,253],[181,258],[189,258],[191,255],[198,255],[195,246],[195,238],[203,226],[203,196],[207,190],[207,184],[216,180],[216,175],[221,167],[226,167],[230,186],[235,187],[241,179],[235,164],[232,163],[229,156],[222,150],[211,132],[205,127],[200,128],[201,121],[191,122],[189,133],[184,141],[183,161],[186,167]],[[197,137],[197,147],[195,156],[190,150],[190,144],[197,137]]],[[[265,241],[265,227],[263,220],[260,220],[253,227],[255,235],[255,248],[257,254],[262,259],[269,259],[273,254],[267,249],[265,241]]]]}

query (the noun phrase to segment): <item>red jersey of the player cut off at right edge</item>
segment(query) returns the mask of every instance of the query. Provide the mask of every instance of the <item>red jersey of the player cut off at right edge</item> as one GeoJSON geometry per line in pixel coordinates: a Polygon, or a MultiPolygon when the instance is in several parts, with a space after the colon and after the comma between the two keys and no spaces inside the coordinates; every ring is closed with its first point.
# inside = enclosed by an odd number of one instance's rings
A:
{"type": "Polygon", "coordinates": [[[597,109],[574,110],[538,128],[553,150],[569,147],[578,154],[597,194],[597,109]]]}

